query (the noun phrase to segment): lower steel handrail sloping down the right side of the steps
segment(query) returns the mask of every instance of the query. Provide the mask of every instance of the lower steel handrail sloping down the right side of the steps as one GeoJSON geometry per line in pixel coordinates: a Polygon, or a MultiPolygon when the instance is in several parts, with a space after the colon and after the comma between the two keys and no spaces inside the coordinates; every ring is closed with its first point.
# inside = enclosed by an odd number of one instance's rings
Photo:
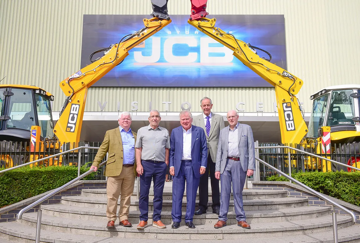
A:
{"type": "MultiPolygon", "coordinates": [[[[289,147],[291,148],[291,147],[289,147]]],[[[304,151],[301,151],[304,152],[304,151]]],[[[352,222],[354,222],[354,224],[356,223],[357,219],[356,219],[356,215],[355,213],[351,212],[349,209],[345,208],[344,206],[334,202],[333,200],[327,198],[326,196],[322,195],[321,193],[315,191],[314,189],[304,185],[303,183],[301,183],[300,181],[297,181],[296,179],[292,178],[291,176],[287,175],[286,173],[282,172],[281,170],[275,168],[274,166],[268,164],[267,162],[265,162],[264,160],[259,159],[258,157],[255,157],[255,159],[257,161],[259,161],[261,164],[266,165],[267,167],[269,167],[272,170],[275,170],[277,173],[279,173],[280,175],[282,175],[283,177],[288,178],[290,181],[296,183],[297,185],[305,188],[306,190],[312,192],[313,194],[315,194],[316,196],[318,196],[319,198],[323,199],[324,201],[327,201],[328,203],[330,203],[331,205],[333,205],[333,207],[337,207],[342,209],[343,211],[347,212],[351,218],[352,218],[352,222]]],[[[336,212],[333,208],[333,212],[332,212],[332,218],[333,218],[333,234],[334,234],[334,242],[338,243],[338,233],[337,233],[337,219],[336,219],[336,212]]]]}

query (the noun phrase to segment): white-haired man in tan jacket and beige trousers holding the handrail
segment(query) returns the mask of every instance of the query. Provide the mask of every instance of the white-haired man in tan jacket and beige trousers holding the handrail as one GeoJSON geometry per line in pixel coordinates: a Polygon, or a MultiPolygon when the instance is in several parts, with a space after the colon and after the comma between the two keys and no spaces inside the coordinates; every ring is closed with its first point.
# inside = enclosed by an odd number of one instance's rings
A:
{"type": "Polygon", "coordinates": [[[130,208],[130,196],[134,191],[136,177],[135,141],[136,133],[131,131],[131,114],[122,112],[118,118],[119,127],[108,130],[104,141],[96,153],[93,165],[90,169],[98,169],[98,166],[106,153],[105,175],[108,177],[106,192],[108,203],[106,216],[108,218],[107,228],[114,228],[116,221],[117,202],[121,192],[119,220],[124,227],[131,227],[128,220],[130,208]]]}

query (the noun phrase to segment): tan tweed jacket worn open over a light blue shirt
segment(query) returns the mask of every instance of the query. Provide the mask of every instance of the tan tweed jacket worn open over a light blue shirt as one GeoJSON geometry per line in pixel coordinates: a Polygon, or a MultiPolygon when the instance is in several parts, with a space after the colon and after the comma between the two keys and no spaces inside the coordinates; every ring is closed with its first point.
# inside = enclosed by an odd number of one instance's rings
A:
{"type": "MultiPolygon", "coordinates": [[[[136,133],[131,131],[132,135],[134,135],[134,146],[136,142],[136,133]]],[[[123,148],[122,148],[122,139],[120,134],[119,127],[115,129],[108,130],[105,133],[104,141],[100,145],[98,152],[96,153],[95,159],[93,161],[93,165],[98,167],[106,153],[108,155],[108,161],[106,163],[106,176],[117,176],[120,175],[122,170],[123,163],[123,148]]],[[[136,176],[136,160],[134,164],[134,175],[136,176]]]]}

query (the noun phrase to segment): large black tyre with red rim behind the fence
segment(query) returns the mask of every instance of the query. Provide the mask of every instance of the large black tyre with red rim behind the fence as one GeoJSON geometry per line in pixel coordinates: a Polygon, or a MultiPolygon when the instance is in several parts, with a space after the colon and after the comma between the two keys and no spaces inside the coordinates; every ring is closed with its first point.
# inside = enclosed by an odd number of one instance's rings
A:
{"type": "MultiPolygon", "coordinates": [[[[334,155],[335,160],[342,164],[351,165],[351,166],[354,166],[354,167],[360,169],[360,148],[359,148],[359,146],[360,146],[359,142],[343,144],[341,147],[336,149],[336,153],[334,155]],[[354,155],[356,155],[356,158],[354,155]]],[[[333,171],[340,171],[340,170],[343,170],[346,172],[354,171],[348,167],[337,165],[334,163],[332,165],[332,169],[333,169],[333,171]]]]}

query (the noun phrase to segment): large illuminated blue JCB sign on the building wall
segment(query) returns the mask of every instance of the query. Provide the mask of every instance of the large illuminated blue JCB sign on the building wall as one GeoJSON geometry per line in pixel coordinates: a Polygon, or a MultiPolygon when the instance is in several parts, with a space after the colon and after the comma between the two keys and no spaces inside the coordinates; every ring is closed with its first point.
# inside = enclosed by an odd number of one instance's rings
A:
{"type": "MultiPolygon", "coordinates": [[[[287,69],[283,15],[213,15],[216,26],[265,49],[271,62],[287,69]]],[[[84,15],[81,68],[89,55],[144,27],[144,15],[84,15]]],[[[122,64],[94,86],[110,87],[269,87],[233,56],[233,51],[171,15],[172,23],[129,51],[122,64]]],[[[265,53],[258,52],[261,57],[265,53]]]]}

